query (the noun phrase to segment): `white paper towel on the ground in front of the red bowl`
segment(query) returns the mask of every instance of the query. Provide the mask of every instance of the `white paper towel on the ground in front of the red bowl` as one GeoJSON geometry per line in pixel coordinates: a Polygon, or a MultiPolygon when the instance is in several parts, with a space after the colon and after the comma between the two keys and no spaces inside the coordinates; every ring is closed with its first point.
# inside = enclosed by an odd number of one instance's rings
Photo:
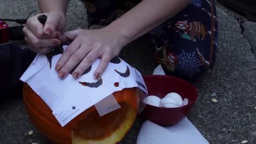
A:
{"type": "Polygon", "coordinates": [[[208,144],[187,117],[170,126],[161,127],[150,121],[143,123],[137,144],[208,144]]]}

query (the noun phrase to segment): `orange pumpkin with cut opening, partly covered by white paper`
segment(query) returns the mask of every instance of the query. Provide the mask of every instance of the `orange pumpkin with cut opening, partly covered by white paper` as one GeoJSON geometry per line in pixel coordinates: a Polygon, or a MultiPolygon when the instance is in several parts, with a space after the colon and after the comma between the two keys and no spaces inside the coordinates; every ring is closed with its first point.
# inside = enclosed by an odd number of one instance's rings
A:
{"type": "Polygon", "coordinates": [[[138,88],[114,92],[120,109],[100,117],[95,106],[91,106],[65,127],[61,127],[48,105],[26,83],[23,98],[31,122],[54,143],[117,143],[135,121],[139,94],[138,88]]]}

